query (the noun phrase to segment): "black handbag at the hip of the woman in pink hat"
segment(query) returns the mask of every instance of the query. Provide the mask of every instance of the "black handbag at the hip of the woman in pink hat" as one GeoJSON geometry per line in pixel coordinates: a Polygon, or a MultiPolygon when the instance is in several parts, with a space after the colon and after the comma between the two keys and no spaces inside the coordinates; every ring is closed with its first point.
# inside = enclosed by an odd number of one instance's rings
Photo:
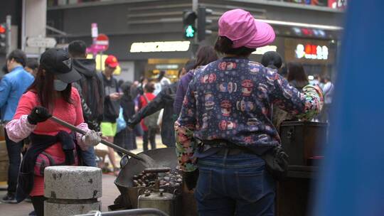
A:
{"type": "Polygon", "coordinates": [[[265,161],[265,168],[275,180],[284,180],[288,173],[288,158],[282,146],[274,146],[262,156],[265,161]]]}

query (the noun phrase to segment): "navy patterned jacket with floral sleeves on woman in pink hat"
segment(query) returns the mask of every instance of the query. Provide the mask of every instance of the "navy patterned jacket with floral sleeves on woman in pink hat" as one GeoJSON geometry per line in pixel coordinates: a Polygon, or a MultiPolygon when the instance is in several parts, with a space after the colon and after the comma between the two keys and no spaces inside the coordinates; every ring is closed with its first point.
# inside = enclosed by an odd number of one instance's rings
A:
{"type": "Polygon", "coordinates": [[[322,100],[319,87],[307,85],[300,93],[275,70],[247,58],[210,63],[190,82],[175,123],[178,163],[185,172],[196,170],[193,138],[249,148],[279,145],[271,105],[305,120],[319,114],[322,100]]]}

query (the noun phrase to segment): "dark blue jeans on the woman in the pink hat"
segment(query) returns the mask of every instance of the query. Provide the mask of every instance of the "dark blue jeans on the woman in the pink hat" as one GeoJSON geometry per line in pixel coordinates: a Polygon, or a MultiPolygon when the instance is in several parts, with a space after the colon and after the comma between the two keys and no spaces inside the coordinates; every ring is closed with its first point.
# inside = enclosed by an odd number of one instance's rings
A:
{"type": "Polygon", "coordinates": [[[201,216],[274,215],[276,183],[262,158],[248,153],[198,159],[195,190],[201,216]]]}

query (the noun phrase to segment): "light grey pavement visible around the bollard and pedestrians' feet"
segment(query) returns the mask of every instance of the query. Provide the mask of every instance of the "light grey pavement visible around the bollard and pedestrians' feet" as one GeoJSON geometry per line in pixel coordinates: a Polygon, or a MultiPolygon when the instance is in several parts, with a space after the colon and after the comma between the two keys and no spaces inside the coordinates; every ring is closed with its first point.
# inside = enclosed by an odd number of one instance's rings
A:
{"type": "MultiPolygon", "coordinates": [[[[156,144],[158,148],[164,148],[165,146],[161,145],[160,136],[156,136],[156,144]]],[[[132,151],[134,153],[142,152],[142,139],[137,139],[137,149],[132,151]]],[[[117,156],[117,155],[116,155],[117,156]]],[[[119,156],[117,156],[119,158],[119,156]]],[[[117,163],[119,164],[119,163],[117,163]]],[[[110,174],[102,175],[102,211],[105,212],[108,210],[108,205],[113,205],[114,199],[119,195],[119,190],[117,190],[114,185],[114,179],[116,177],[110,174]]],[[[6,195],[6,183],[0,182],[0,198],[6,195]]],[[[33,210],[32,204],[28,202],[21,202],[18,204],[6,204],[0,202],[0,216],[26,216],[29,212],[33,210]]]]}

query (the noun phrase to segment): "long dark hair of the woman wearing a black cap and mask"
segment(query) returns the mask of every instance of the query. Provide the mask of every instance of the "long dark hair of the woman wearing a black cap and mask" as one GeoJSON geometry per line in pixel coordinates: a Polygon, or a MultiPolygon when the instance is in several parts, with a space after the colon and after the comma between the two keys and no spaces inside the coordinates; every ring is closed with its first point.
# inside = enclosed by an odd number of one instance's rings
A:
{"type": "MultiPolygon", "coordinates": [[[[50,111],[53,111],[53,105],[55,100],[54,94],[52,94],[52,92],[55,91],[53,87],[53,80],[55,80],[55,76],[53,75],[53,73],[48,72],[41,66],[39,66],[35,81],[33,81],[32,85],[27,90],[31,92],[36,92],[41,106],[46,107],[50,111]]],[[[64,91],[59,92],[60,97],[62,97],[65,102],[68,102],[68,104],[72,104],[72,101],[70,99],[71,92],[71,84],[68,84],[67,88],[64,91]]]]}

